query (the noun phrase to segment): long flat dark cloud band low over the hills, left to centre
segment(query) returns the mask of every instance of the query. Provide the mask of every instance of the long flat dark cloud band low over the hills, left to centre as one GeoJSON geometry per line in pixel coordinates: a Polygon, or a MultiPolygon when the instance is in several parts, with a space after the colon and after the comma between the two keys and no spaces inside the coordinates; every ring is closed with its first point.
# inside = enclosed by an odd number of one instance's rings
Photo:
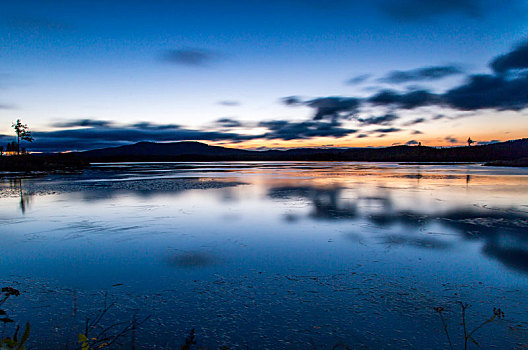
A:
{"type": "MultiPolygon", "coordinates": [[[[243,126],[239,121],[222,118],[217,124],[232,128],[243,126]]],[[[273,120],[260,122],[259,127],[267,130],[257,135],[245,135],[229,131],[207,131],[186,129],[175,124],[153,124],[140,122],[118,125],[110,121],[82,119],[56,123],[60,130],[33,131],[35,141],[28,147],[33,152],[81,151],[95,148],[126,145],[140,141],[226,141],[230,143],[255,139],[294,140],[314,137],[340,138],[354,134],[356,130],[342,127],[339,121],[291,122],[273,120]]],[[[0,143],[12,137],[0,135],[0,143]]]]}

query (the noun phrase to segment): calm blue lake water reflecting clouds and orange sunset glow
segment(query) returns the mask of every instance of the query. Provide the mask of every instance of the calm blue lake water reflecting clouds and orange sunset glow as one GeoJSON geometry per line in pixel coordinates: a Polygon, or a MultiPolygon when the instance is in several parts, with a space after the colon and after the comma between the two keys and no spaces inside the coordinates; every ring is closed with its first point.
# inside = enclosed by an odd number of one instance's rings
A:
{"type": "Polygon", "coordinates": [[[102,326],[149,317],[125,348],[195,329],[209,349],[448,349],[435,307],[460,348],[459,301],[469,330],[505,312],[483,348],[528,344],[528,169],[119,163],[0,186],[4,306],[33,348],[77,345],[105,298],[102,326]]]}

